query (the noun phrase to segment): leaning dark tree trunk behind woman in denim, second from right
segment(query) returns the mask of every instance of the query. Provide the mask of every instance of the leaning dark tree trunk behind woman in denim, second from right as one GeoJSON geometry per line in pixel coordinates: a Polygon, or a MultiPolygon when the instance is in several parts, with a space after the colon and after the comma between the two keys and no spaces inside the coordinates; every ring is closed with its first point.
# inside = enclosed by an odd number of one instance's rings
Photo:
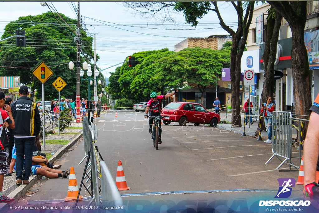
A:
{"type": "MultiPolygon", "coordinates": [[[[277,53],[277,43],[279,30],[281,26],[282,16],[278,11],[274,11],[274,16],[271,14],[271,9],[269,10],[269,15],[267,17],[267,38],[265,41],[265,50],[263,52],[263,64],[264,64],[264,76],[263,81],[263,91],[261,93],[261,101],[259,103],[259,109],[261,109],[261,104],[266,102],[266,97],[271,96],[273,100],[273,84],[274,82],[274,65],[277,53]]],[[[257,113],[256,113],[257,114],[257,113]]],[[[260,111],[259,111],[260,114],[260,111]]],[[[255,135],[259,131],[266,131],[265,121],[262,117],[259,117],[259,123],[257,125],[257,130],[255,135]]]]}

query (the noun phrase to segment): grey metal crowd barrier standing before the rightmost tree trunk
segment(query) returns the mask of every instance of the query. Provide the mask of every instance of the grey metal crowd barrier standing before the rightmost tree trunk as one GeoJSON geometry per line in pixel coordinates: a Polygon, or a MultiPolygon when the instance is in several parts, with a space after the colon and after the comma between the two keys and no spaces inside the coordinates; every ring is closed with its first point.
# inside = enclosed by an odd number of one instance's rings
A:
{"type": "Polygon", "coordinates": [[[276,169],[279,169],[286,162],[286,164],[289,164],[289,170],[280,171],[299,171],[299,167],[291,162],[291,112],[273,111],[271,131],[273,155],[266,164],[276,156],[281,161],[281,164],[276,169]],[[281,160],[280,157],[284,158],[284,160],[281,160]],[[292,170],[291,166],[297,170],[292,170]]]}

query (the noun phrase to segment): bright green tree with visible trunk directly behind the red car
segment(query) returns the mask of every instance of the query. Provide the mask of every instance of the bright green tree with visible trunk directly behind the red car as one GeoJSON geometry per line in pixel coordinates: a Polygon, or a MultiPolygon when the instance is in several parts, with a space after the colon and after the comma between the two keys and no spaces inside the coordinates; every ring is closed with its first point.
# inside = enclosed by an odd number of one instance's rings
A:
{"type": "MultiPolygon", "coordinates": [[[[159,60],[159,75],[166,77],[168,87],[182,88],[188,84],[197,85],[204,104],[206,88],[216,85],[217,75],[221,73],[223,62],[229,61],[220,54],[222,50],[186,48],[159,60]]],[[[164,79],[163,79],[164,80],[164,79]]]]}

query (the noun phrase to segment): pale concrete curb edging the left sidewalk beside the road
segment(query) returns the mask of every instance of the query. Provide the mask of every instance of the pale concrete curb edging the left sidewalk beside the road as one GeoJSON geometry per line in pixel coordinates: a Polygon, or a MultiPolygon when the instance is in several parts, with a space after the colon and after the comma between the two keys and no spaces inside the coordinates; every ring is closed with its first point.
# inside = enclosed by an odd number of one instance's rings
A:
{"type": "MultiPolygon", "coordinates": [[[[83,133],[78,134],[75,138],[73,138],[68,144],[64,145],[60,148],[49,160],[51,164],[53,164],[58,158],[60,158],[67,149],[69,149],[73,143],[77,142],[80,137],[82,137],[83,133]]],[[[33,186],[40,179],[39,175],[33,175],[29,178],[28,185],[20,185],[13,192],[11,192],[8,197],[14,198],[14,201],[9,203],[0,203],[0,211],[5,212],[9,210],[9,206],[18,202],[18,200],[26,194],[26,191],[33,186]]]]}

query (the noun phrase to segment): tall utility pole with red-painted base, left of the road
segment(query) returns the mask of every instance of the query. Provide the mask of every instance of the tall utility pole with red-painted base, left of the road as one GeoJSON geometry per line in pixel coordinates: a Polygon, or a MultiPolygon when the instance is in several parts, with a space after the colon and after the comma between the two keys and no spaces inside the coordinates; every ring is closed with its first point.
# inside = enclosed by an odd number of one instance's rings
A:
{"type": "MultiPolygon", "coordinates": [[[[76,109],[77,109],[77,115],[76,115],[76,122],[80,123],[80,2],[78,2],[78,28],[77,28],[77,34],[76,34],[76,40],[77,40],[77,98],[76,98],[76,109]]],[[[59,100],[60,101],[60,100],[59,100]]]]}

